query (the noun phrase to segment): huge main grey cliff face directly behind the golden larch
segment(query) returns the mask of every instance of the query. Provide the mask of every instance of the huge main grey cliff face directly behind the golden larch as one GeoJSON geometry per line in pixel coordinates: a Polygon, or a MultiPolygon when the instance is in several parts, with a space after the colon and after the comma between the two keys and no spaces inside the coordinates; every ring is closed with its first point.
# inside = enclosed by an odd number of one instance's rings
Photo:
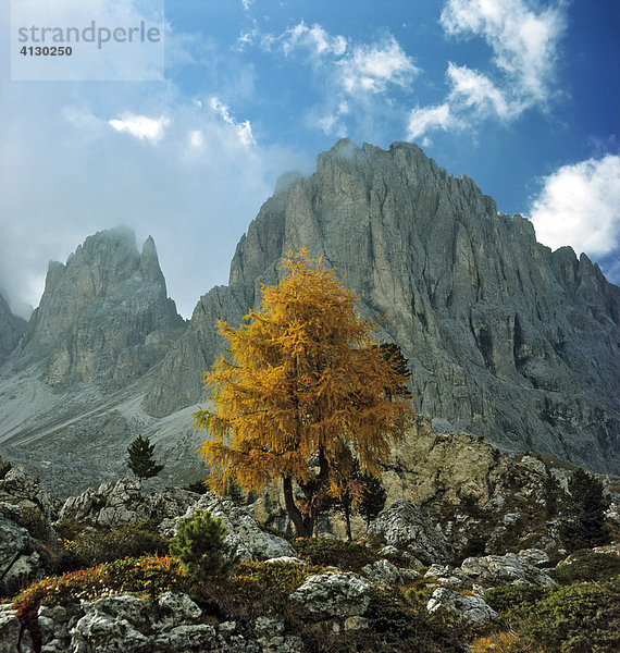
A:
{"type": "Polygon", "coordinates": [[[498,213],[414,145],[342,140],[263,205],[230,287],[201,299],[190,330],[207,365],[215,319],[238,321],[302,245],[346,274],[364,313],[385,317],[379,337],[410,360],[422,415],[511,449],[618,470],[620,288],[586,256],[536,243],[528,220],[498,213]]]}

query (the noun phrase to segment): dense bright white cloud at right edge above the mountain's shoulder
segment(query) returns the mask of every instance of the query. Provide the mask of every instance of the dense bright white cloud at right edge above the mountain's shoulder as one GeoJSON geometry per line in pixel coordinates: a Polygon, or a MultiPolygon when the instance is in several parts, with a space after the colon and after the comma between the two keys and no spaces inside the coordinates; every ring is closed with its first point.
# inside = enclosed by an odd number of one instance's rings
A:
{"type": "Polygon", "coordinates": [[[537,239],[604,257],[620,247],[620,157],[563,165],[545,177],[530,210],[537,239]]]}

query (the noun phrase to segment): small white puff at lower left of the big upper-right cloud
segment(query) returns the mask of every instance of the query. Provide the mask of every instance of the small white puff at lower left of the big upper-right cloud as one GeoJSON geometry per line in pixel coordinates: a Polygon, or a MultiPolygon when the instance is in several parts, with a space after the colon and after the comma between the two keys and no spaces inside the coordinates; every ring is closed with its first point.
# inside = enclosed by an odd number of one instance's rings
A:
{"type": "Polygon", "coordinates": [[[511,109],[504,94],[485,75],[450,62],[447,76],[451,86],[448,97],[452,103],[473,108],[481,113],[494,112],[499,118],[510,115],[511,109]]]}

